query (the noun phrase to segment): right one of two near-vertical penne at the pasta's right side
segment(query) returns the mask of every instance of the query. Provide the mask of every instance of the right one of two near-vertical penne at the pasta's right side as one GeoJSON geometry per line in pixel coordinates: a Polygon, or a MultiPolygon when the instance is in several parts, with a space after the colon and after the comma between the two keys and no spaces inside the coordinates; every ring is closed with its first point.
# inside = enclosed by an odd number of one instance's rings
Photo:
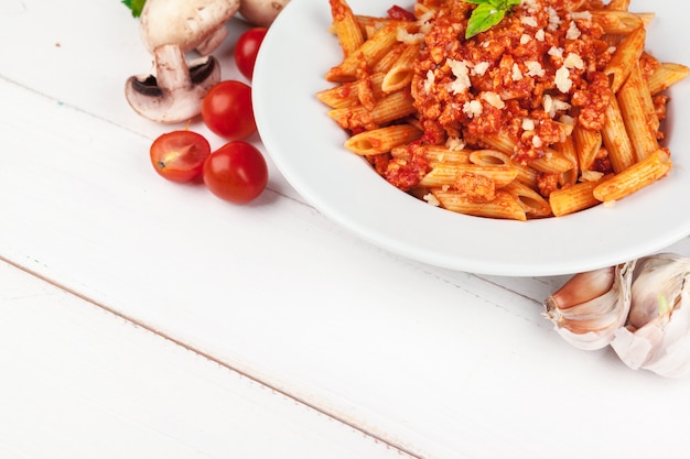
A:
{"type": "Polygon", "coordinates": [[[649,108],[646,102],[649,91],[642,77],[639,65],[636,65],[630,72],[630,76],[621,87],[616,97],[636,160],[644,160],[659,149],[657,141],[658,117],[654,106],[649,108]]]}

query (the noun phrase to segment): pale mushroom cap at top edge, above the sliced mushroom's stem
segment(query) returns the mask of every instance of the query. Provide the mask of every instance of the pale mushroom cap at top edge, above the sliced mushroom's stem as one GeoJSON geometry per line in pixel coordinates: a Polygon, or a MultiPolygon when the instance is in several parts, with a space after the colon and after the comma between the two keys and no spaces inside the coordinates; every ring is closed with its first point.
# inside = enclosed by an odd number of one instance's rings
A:
{"type": "Polygon", "coordinates": [[[149,53],[169,44],[186,53],[223,32],[238,10],[239,0],[147,0],[139,23],[141,41],[149,53]]]}

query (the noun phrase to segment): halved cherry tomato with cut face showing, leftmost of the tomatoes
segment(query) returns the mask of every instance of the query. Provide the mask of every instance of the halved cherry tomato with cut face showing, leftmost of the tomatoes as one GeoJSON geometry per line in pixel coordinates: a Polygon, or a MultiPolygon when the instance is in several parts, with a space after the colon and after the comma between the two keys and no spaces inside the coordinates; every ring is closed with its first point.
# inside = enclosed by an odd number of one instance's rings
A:
{"type": "Polygon", "coordinates": [[[177,183],[198,176],[209,154],[208,141],[192,131],[164,133],[153,141],[149,151],[155,172],[177,183]]]}

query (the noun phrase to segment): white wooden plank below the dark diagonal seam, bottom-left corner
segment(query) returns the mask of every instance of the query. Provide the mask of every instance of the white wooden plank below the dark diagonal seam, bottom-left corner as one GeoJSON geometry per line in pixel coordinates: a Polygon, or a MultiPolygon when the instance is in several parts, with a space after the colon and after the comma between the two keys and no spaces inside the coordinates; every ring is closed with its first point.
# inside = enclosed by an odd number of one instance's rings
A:
{"type": "Polygon", "coordinates": [[[0,262],[0,456],[405,458],[0,262]]]}

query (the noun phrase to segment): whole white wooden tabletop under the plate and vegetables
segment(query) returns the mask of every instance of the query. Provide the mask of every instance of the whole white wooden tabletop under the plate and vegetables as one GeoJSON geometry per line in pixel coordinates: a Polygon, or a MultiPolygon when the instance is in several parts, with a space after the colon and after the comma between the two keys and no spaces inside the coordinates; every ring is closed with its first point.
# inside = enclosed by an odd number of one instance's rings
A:
{"type": "Polygon", "coordinates": [[[118,0],[0,0],[0,458],[687,457],[690,382],[563,342],[565,277],[387,253],[272,164],[249,206],[158,177],[149,66],[118,0]]]}

